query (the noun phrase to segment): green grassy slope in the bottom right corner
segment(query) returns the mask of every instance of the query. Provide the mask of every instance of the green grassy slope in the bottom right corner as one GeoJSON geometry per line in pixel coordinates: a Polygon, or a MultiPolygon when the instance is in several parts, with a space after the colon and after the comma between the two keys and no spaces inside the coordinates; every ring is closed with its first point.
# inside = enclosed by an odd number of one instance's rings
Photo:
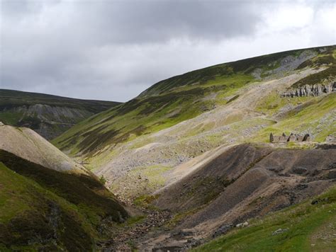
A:
{"type": "Polygon", "coordinates": [[[332,188],[286,210],[252,219],[249,227],[234,228],[194,251],[335,251],[335,232],[336,188],[332,188]]]}

